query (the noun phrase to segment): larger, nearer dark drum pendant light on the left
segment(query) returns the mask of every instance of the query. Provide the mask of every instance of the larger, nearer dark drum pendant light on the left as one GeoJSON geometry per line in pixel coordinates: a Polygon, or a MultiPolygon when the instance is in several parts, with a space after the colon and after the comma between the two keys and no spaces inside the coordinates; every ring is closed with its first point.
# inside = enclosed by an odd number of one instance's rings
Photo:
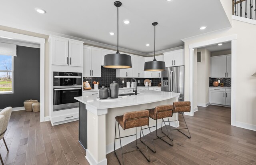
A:
{"type": "Polygon", "coordinates": [[[107,54],[104,56],[104,68],[126,69],[132,68],[132,58],[127,54],[120,54],[118,50],[118,8],[122,5],[116,1],[114,5],[117,7],[117,51],[115,54],[107,54]]]}

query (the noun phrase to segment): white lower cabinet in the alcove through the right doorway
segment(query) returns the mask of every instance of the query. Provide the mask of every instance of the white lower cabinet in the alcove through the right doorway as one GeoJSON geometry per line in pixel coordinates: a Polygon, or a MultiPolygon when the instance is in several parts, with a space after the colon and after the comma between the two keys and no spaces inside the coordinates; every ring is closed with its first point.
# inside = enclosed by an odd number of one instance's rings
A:
{"type": "Polygon", "coordinates": [[[231,89],[222,87],[210,87],[210,103],[231,105],[231,89]]]}

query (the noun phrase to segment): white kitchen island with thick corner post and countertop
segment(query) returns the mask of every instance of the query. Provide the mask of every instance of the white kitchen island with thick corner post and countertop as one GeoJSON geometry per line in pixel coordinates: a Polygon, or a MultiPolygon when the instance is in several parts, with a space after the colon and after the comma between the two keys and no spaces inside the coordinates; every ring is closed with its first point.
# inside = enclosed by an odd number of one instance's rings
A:
{"type": "MultiPolygon", "coordinates": [[[[101,102],[97,100],[98,95],[75,97],[80,101],[80,112],[86,111],[87,122],[79,126],[79,132],[83,130],[87,133],[86,159],[91,165],[107,165],[106,154],[114,151],[114,131],[115,117],[123,115],[125,112],[139,111],[154,108],[157,105],[172,104],[178,101],[180,93],[164,91],[142,91],[138,95],[122,96],[122,99],[114,102],[101,102]],[[85,106],[84,106],[85,105],[85,106]],[[86,129],[87,128],[87,129],[86,129]]],[[[82,113],[81,113],[82,114],[82,113]]],[[[79,114],[80,115],[80,114],[79,114]]],[[[175,118],[176,115],[172,117],[175,118]]],[[[86,120],[84,118],[84,120],[86,120]]],[[[172,120],[171,119],[171,120],[172,120]]],[[[82,122],[82,121],[81,121],[82,122]]],[[[176,126],[176,123],[172,122],[176,126]]],[[[150,119],[150,126],[155,125],[155,121],[150,119]]],[[[161,125],[159,120],[158,128],[161,125]]],[[[150,129],[154,131],[155,129],[150,129]]],[[[121,136],[135,133],[135,129],[120,128],[121,136]]],[[[145,129],[147,134],[149,131],[145,129]]],[[[137,138],[139,138],[140,129],[137,129],[137,138]]],[[[122,139],[122,145],[126,145],[135,140],[135,136],[122,139]]],[[[116,149],[120,147],[116,141],[116,149]]]]}

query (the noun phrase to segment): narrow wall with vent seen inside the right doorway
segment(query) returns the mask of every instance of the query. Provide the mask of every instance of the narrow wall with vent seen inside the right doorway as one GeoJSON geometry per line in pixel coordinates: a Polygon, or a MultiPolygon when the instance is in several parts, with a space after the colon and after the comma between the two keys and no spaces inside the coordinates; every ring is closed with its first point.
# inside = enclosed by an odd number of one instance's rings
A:
{"type": "Polygon", "coordinates": [[[197,63],[196,105],[205,107],[209,103],[210,52],[205,48],[197,49],[197,52],[201,52],[201,62],[197,63]]]}

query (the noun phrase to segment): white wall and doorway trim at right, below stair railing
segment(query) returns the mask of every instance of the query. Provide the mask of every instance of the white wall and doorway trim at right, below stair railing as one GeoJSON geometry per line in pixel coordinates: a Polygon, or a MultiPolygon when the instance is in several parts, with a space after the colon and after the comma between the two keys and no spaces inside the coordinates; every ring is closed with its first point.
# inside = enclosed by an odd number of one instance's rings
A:
{"type": "Polygon", "coordinates": [[[236,79],[232,78],[232,82],[236,81],[237,84],[236,95],[232,95],[236,97],[236,125],[256,130],[256,77],[251,77],[256,72],[256,26],[232,20],[232,0],[220,2],[229,20],[232,21],[232,28],[185,41],[185,100],[189,99],[189,45],[236,34],[236,79]]]}

